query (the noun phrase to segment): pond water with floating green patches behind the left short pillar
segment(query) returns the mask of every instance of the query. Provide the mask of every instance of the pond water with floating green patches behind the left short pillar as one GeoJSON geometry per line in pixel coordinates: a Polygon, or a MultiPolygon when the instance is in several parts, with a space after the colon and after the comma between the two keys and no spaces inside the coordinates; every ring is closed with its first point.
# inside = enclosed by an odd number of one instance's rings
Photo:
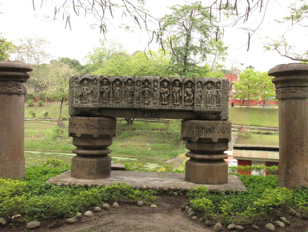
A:
{"type": "MultiPolygon", "coordinates": [[[[25,151],[25,158],[26,158],[26,166],[31,164],[40,165],[43,162],[46,162],[48,159],[59,159],[63,160],[66,164],[71,165],[71,159],[76,154],[73,153],[64,153],[58,151],[25,151]]],[[[117,156],[111,155],[109,156],[112,158],[111,162],[115,164],[129,164],[131,167],[136,168],[137,170],[142,169],[150,169],[156,170],[158,168],[163,167],[166,165],[164,161],[156,160],[153,158],[146,158],[146,157],[133,157],[133,156],[117,156]]]]}

